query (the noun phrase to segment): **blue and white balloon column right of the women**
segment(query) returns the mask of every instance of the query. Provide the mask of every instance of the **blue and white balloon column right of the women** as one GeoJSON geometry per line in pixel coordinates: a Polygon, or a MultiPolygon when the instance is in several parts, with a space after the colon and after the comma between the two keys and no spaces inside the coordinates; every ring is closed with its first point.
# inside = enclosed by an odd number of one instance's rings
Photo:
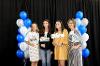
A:
{"type": "Polygon", "coordinates": [[[83,12],[82,11],[77,11],[75,15],[75,21],[76,21],[76,29],[80,32],[81,34],[81,40],[82,40],[82,56],[84,58],[87,58],[90,54],[89,49],[87,49],[87,41],[89,39],[89,35],[86,33],[87,32],[87,25],[89,23],[87,18],[83,18],[83,12]]]}

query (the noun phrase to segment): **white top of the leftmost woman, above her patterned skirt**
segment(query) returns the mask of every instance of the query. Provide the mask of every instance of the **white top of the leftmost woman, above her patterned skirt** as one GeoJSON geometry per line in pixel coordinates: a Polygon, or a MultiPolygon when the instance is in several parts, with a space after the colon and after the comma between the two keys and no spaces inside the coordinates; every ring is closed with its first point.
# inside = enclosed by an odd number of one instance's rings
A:
{"type": "Polygon", "coordinates": [[[32,44],[39,44],[39,33],[37,32],[28,32],[25,37],[25,41],[30,41],[32,44]]]}

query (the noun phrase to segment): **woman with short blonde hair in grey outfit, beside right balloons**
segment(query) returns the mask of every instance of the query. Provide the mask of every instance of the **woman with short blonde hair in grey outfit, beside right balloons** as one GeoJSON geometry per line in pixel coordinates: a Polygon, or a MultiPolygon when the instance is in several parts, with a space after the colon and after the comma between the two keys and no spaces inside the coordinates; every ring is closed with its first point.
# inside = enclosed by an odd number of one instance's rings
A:
{"type": "Polygon", "coordinates": [[[68,66],[83,66],[82,64],[82,49],[81,49],[81,35],[75,29],[76,22],[74,19],[68,20],[69,32],[69,55],[68,66]]]}

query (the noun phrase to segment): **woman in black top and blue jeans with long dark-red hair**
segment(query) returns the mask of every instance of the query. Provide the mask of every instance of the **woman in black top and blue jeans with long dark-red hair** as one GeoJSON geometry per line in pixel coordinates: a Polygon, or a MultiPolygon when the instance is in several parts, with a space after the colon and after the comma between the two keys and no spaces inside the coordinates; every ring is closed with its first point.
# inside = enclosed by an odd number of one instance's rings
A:
{"type": "Polygon", "coordinates": [[[42,66],[51,66],[51,31],[50,23],[48,19],[43,21],[43,28],[40,32],[40,57],[42,60],[42,66]]]}

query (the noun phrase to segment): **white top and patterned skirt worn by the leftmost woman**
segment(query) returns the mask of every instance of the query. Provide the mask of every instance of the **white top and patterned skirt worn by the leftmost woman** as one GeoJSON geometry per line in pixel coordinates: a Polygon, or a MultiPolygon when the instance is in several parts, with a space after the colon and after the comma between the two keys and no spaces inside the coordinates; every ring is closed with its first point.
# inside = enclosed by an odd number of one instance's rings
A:
{"type": "Polygon", "coordinates": [[[29,45],[29,57],[30,61],[38,61],[39,60],[39,34],[37,32],[29,32],[25,37],[25,41],[30,41],[34,46],[29,45]],[[34,39],[33,39],[34,38],[34,39]]]}

